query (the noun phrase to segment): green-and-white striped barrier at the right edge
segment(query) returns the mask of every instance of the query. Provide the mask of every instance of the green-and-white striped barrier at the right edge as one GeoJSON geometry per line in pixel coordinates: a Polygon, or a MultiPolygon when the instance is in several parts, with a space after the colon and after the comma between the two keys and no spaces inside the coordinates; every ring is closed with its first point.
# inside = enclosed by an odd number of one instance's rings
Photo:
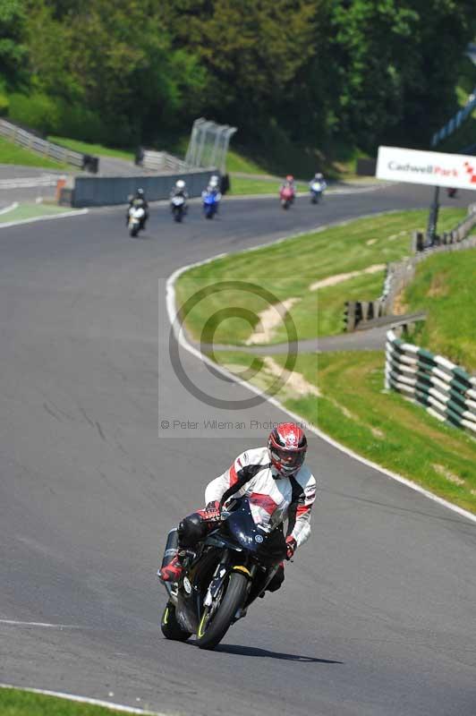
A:
{"type": "Polygon", "coordinates": [[[385,385],[428,413],[476,434],[476,378],[462,368],[387,332],[385,385]]]}

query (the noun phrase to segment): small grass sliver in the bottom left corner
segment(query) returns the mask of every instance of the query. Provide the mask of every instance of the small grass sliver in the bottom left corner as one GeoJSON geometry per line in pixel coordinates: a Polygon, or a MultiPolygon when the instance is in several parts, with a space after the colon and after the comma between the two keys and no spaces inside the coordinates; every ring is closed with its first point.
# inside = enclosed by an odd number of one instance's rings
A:
{"type": "Polygon", "coordinates": [[[2,716],[111,716],[123,714],[115,709],[90,703],[68,701],[57,696],[31,694],[16,688],[0,688],[2,716]]]}

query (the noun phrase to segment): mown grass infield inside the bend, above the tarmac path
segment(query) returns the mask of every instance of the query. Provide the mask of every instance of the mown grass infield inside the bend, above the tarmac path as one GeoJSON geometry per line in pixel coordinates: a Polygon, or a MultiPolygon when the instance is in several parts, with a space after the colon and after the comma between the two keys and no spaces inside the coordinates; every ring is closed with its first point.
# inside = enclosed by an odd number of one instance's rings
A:
{"type": "MultiPolygon", "coordinates": [[[[276,211],[281,210],[276,203],[276,211]]],[[[444,209],[440,215],[441,230],[455,226],[464,213],[463,209],[444,209]]],[[[424,210],[358,219],[191,268],[176,284],[179,305],[200,289],[221,281],[249,282],[272,296],[260,297],[254,289],[242,288],[213,293],[190,311],[186,327],[196,339],[205,326],[203,337],[207,342],[243,345],[259,321],[257,314],[267,309],[270,301],[295,298],[289,314],[301,338],[337,334],[344,328],[344,301],[353,297],[377,298],[383,286],[383,269],[378,274],[364,274],[316,291],[310,291],[310,285],[323,278],[401,259],[410,252],[412,230],[425,226],[426,220],[424,210]],[[209,320],[224,306],[251,311],[251,320],[243,317],[223,320],[223,313],[216,320],[209,320]]],[[[281,343],[285,338],[285,326],[281,323],[272,342],[281,343]]]]}

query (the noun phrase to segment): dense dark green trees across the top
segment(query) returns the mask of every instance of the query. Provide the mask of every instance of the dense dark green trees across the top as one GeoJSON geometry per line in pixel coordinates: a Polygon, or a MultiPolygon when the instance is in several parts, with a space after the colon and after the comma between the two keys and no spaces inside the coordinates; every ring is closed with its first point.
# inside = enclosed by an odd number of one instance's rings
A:
{"type": "Polygon", "coordinates": [[[132,146],[206,115],[242,138],[428,146],[473,0],[0,0],[0,112],[132,146]]]}

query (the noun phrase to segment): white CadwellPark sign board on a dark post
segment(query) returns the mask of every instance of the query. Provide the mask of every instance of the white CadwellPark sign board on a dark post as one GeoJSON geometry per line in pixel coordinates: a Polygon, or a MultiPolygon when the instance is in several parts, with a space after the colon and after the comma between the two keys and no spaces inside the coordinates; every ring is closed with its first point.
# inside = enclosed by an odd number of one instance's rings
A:
{"type": "Polygon", "coordinates": [[[378,179],[476,189],[476,158],[439,151],[379,147],[378,179]]]}

